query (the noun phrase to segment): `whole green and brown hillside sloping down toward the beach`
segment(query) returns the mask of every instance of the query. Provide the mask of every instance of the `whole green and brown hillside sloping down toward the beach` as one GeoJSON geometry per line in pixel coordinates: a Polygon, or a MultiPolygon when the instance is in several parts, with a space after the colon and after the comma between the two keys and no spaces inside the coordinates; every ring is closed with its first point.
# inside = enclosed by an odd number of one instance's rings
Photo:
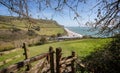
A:
{"type": "Polygon", "coordinates": [[[40,42],[41,36],[58,33],[65,34],[65,30],[53,20],[0,16],[0,51],[21,47],[24,42],[33,45],[40,42]]]}

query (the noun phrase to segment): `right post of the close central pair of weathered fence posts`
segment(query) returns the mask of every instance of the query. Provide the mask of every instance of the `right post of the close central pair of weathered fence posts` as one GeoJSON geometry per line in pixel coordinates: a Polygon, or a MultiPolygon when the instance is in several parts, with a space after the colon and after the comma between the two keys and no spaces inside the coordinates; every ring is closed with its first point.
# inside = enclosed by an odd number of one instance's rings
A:
{"type": "Polygon", "coordinates": [[[60,60],[61,60],[61,53],[62,49],[61,48],[56,48],[56,73],[61,73],[60,71],[60,60]]]}

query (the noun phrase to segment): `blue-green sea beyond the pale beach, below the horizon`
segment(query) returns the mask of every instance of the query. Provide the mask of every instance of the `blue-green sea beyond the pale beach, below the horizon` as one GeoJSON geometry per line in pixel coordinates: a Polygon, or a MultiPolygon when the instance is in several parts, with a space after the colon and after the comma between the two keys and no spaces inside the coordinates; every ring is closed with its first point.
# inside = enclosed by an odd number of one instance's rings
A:
{"type": "Polygon", "coordinates": [[[99,34],[99,29],[93,29],[92,27],[66,27],[66,28],[83,36],[102,37],[102,38],[111,36],[111,35],[99,34]]]}

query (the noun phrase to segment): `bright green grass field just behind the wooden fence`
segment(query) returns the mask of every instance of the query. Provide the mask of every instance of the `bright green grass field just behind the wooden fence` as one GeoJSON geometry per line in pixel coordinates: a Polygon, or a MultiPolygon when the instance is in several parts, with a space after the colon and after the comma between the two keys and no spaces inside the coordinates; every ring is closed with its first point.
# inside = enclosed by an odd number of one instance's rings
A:
{"type": "MultiPolygon", "coordinates": [[[[30,56],[32,57],[32,56],[47,52],[49,50],[49,47],[52,46],[54,49],[57,47],[61,47],[63,50],[63,56],[68,56],[70,55],[71,51],[75,51],[78,56],[86,57],[91,52],[94,52],[94,50],[97,50],[96,48],[107,44],[110,40],[111,39],[81,39],[81,40],[72,40],[72,41],[62,41],[62,42],[49,43],[49,44],[44,44],[40,46],[29,47],[29,51],[30,51],[30,56]]],[[[13,61],[3,66],[0,66],[0,69],[10,64],[14,64],[16,62],[24,60],[23,49],[20,49],[16,52],[1,56],[0,62],[8,58],[12,58],[16,55],[21,55],[21,57],[14,59],[13,61]]]]}

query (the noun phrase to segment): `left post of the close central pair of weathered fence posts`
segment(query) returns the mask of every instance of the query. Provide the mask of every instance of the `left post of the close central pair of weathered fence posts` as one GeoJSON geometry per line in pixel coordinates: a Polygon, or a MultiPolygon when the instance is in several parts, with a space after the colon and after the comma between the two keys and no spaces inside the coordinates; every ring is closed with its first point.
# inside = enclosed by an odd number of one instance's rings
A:
{"type": "Polygon", "coordinates": [[[49,48],[49,53],[50,53],[50,70],[51,70],[51,73],[55,73],[54,72],[54,51],[53,51],[53,47],[49,48]]]}

